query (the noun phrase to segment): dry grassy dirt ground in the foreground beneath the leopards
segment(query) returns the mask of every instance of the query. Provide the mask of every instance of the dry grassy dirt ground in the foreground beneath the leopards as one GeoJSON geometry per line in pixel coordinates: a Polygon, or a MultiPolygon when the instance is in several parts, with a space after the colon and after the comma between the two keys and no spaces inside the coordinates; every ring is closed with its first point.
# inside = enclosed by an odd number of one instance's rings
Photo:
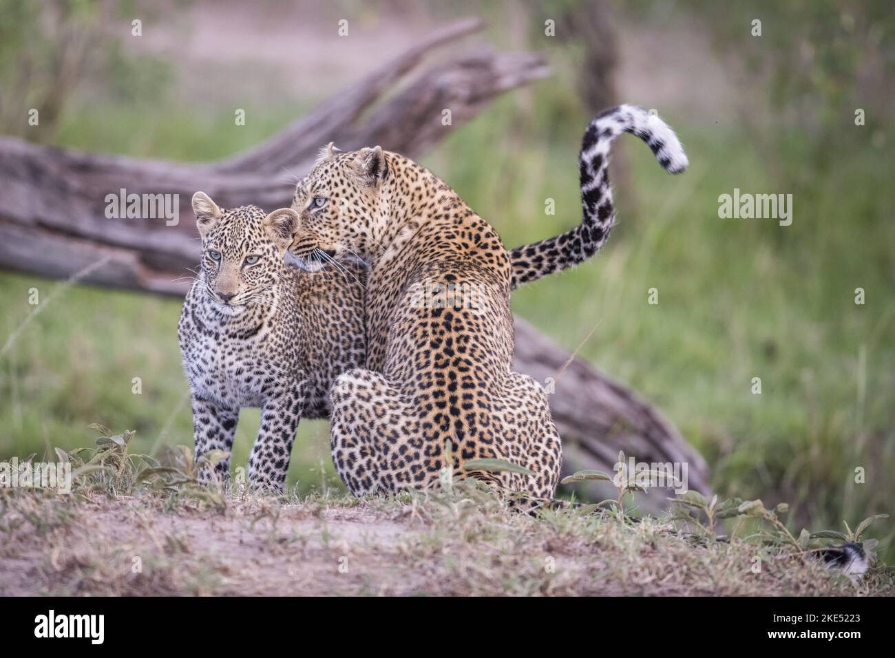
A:
{"type": "Polygon", "coordinates": [[[533,517],[456,493],[86,498],[5,498],[0,594],[895,594],[883,568],[850,580],[746,542],[693,543],[667,522],[533,517]]]}

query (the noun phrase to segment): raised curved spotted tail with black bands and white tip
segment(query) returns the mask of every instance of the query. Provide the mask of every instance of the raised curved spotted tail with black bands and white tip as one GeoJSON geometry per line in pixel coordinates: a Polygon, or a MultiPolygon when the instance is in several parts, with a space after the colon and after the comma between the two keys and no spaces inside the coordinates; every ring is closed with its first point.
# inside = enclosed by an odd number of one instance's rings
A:
{"type": "Polygon", "coordinates": [[[524,244],[510,252],[512,288],[584,262],[606,243],[615,223],[609,186],[609,146],[622,132],[630,132],[645,141],[669,174],[679,174],[689,164],[678,136],[658,115],[633,105],[604,110],[587,126],[578,156],[581,224],[561,235],[524,244]]]}

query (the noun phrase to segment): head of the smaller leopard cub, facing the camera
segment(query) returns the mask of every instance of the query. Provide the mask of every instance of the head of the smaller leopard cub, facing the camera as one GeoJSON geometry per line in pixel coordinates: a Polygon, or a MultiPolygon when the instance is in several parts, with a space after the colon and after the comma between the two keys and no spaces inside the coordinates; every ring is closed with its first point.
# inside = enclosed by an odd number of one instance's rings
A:
{"type": "Polygon", "coordinates": [[[202,238],[200,278],[217,310],[238,315],[251,305],[268,303],[298,226],[295,211],[283,208],[265,215],[257,206],[224,210],[205,192],[192,195],[192,209],[202,238]]]}

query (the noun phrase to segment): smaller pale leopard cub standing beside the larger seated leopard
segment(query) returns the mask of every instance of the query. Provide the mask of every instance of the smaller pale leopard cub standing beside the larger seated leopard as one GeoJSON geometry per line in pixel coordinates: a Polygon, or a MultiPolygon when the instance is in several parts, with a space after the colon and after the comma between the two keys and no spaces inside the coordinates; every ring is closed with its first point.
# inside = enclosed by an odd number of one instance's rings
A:
{"type": "MultiPolygon", "coordinates": [[[[202,261],[177,333],[196,458],[230,452],[240,408],[260,406],[249,483],[279,490],[299,419],[327,417],[332,380],[364,363],[362,286],[284,265],[298,222],[292,209],[222,210],[204,192],[192,207],[202,261]]],[[[226,479],[229,459],[215,468],[226,479]]],[[[210,476],[200,469],[200,480],[210,476]]]]}

